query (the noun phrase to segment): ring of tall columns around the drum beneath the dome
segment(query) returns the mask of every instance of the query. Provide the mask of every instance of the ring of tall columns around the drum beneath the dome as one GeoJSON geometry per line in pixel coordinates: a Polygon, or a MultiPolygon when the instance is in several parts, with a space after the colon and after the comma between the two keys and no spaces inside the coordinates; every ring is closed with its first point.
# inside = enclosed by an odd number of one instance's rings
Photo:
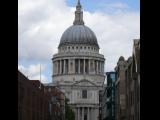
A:
{"type": "Polygon", "coordinates": [[[103,74],[104,61],[93,59],[62,59],[53,62],[54,75],[58,74],[103,74]],[[74,61],[74,62],[73,62],[74,61]]]}

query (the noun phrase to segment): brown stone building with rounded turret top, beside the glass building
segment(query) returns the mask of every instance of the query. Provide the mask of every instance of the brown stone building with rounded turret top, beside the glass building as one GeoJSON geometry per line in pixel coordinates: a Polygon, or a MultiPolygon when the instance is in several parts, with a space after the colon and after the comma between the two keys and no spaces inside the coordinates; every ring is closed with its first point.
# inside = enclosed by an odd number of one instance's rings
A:
{"type": "Polygon", "coordinates": [[[126,61],[121,56],[117,62],[115,71],[117,79],[115,82],[115,119],[126,120],[126,61]]]}

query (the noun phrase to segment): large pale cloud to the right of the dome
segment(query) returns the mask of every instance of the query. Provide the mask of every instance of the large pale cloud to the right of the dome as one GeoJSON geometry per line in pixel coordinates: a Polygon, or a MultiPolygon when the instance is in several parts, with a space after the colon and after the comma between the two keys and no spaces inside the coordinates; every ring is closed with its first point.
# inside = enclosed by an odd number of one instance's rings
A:
{"type": "Polygon", "coordinates": [[[114,70],[118,58],[132,54],[133,39],[140,38],[140,15],[136,12],[108,15],[85,12],[86,25],[95,32],[100,53],[106,58],[105,71],[114,70]],[[93,19],[98,18],[98,19],[93,19]]]}

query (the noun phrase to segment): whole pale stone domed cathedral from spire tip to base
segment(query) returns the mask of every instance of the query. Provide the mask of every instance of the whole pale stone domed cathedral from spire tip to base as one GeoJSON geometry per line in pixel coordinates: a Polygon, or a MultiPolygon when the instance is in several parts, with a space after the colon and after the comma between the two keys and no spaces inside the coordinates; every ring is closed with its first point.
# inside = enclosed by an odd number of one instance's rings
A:
{"type": "Polygon", "coordinates": [[[105,59],[99,49],[78,0],[73,25],[64,31],[52,58],[53,82],[69,99],[76,120],[99,119],[99,91],[105,80],[105,59]]]}

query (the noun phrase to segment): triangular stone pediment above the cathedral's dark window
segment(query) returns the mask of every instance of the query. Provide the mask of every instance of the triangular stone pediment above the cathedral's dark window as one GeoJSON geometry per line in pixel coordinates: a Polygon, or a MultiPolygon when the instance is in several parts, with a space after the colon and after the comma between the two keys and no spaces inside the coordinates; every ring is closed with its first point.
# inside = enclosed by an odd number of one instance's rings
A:
{"type": "Polygon", "coordinates": [[[85,80],[85,79],[74,83],[72,86],[95,86],[95,87],[97,87],[96,84],[94,84],[93,82],[91,82],[89,80],[85,80]]]}

